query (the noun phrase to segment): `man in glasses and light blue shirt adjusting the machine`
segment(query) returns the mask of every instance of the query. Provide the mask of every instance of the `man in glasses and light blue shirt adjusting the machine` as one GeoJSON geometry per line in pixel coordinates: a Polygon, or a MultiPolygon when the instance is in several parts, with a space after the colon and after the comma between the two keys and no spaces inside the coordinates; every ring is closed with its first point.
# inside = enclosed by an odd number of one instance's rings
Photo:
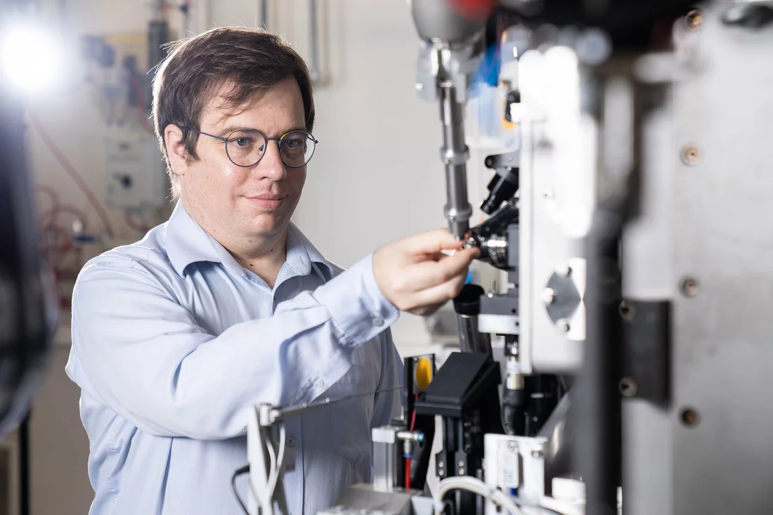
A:
{"type": "Polygon", "coordinates": [[[82,390],[91,513],[241,513],[230,479],[259,403],[361,394],[287,421],[290,513],[370,480],[370,428],[400,406],[386,328],[455,297],[476,251],[435,230],[348,271],[325,261],[290,223],[316,145],[310,84],[297,53],[249,29],[189,39],[158,70],[155,130],[179,202],[90,261],[73,292],[66,370],[82,390]]]}

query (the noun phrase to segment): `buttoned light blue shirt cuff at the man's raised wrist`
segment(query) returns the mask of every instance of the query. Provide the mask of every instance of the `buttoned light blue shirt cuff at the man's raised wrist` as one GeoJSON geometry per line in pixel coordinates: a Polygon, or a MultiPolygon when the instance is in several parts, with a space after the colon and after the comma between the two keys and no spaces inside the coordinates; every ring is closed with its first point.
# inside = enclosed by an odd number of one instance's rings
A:
{"type": "Polygon", "coordinates": [[[345,342],[359,346],[391,326],[400,310],[386,300],[373,276],[373,254],[317,288],[315,297],[332,315],[345,342]]]}

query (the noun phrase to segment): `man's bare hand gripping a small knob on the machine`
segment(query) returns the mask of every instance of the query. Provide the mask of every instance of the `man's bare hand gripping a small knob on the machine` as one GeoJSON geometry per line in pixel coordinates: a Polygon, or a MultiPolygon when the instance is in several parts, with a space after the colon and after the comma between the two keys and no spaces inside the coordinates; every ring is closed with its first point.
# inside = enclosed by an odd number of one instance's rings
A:
{"type": "Polygon", "coordinates": [[[479,253],[461,249],[461,241],[447,229],[431,230],[381,247],[373,254],[373,275],[397,309],[427,316],[459,294],[479,253]]]}

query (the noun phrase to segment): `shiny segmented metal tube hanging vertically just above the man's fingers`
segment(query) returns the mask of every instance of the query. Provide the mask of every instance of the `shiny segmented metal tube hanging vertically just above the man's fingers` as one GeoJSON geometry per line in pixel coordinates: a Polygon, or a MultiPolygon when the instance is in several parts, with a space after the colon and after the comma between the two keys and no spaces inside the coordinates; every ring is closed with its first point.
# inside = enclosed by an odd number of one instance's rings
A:
{"type": "Polygon", "coordinates": [[[465,145],[464,106],[456,99],[456,89],[441,84],[441,120],[443,121],[443,148],[441,158],[445,165],[446,205],[448,228],[460,240],[470,229],[472,206],[467,200],[468,149],[465,145]]]}

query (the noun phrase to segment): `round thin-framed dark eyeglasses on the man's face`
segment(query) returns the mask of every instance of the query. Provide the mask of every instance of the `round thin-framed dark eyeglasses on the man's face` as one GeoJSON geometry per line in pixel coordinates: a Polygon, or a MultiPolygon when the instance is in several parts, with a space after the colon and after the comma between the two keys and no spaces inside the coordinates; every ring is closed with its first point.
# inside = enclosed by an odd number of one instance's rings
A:
{"type": "Polygon", "coordinates": [[[280,138],[267,138],[255,129],[238,129],[227,136],[216,136],[206,132],[196,131],[188,127],[180,127],[184,131],[196,132],[210,138],[220,139],[226,144],[226,155],[234,165],[249,168],[257,165],[266,153],[268,142],[276,140],[279,145],[279,156],[288,168],[305,166],[314,155],[317,140],[306,131],[290,131],[280,138]]]}

